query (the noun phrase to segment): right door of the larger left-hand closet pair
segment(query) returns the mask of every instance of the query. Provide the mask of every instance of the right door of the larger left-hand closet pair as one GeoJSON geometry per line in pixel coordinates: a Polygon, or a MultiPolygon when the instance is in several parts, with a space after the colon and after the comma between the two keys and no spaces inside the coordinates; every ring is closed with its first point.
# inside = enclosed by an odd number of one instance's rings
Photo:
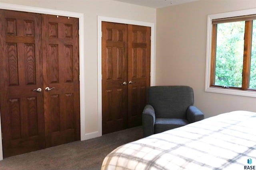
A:
{"type": "Polygon", "coordinates": [[[42,15],[46,147],[80,140],[78,38],[78,18],[42,15]]]}

